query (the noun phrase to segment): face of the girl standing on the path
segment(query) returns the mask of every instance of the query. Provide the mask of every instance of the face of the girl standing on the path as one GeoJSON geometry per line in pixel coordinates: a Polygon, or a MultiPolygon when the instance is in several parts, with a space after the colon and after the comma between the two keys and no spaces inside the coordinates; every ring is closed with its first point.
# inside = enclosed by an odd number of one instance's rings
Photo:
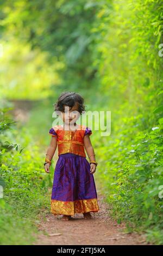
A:
{"type": "Polygon", "coordinates": [[[76,103],[72,108],[64,105],[65,112],[62,112],[62,120],[65,124],[74,124],[80,116],[78,111],[78,103],[76,103]]]}

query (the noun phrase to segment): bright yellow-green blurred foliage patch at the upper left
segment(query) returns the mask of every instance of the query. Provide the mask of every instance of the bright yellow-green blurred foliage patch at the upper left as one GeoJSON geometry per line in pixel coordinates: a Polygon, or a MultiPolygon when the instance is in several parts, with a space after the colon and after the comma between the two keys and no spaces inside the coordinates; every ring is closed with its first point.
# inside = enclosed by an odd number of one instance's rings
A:
{"type": "Polygon", "coordinates": [[[52,84],[59,83],[55,65],[47,63],[47,53],[31,50],[30,44],[22,43],[16,38],[8,42],[7,35],[1,40],[3,56],[1,57],[0,93],[8,99],[45,99],[51,95],[52,84]],[[3,65],[2,65],[3,63],[3,65]]]}

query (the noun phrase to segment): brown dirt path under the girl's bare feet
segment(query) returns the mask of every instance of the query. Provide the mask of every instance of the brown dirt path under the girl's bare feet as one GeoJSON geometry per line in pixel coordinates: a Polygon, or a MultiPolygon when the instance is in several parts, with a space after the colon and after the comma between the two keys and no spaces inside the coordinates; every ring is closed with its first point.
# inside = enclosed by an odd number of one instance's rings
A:
{"type": "Polygon", "coordinates": [[[82,214],[74,215],[71,221],[61,221],[60,216],[46,215],[39,224],[40,234],[33,245],[146,245],[145,236],[125,234],[125,224],[117,224],[108,213],[108,204],[97,190],[99,211],[91,212],[92,219],[85,220],[82,214]]]}

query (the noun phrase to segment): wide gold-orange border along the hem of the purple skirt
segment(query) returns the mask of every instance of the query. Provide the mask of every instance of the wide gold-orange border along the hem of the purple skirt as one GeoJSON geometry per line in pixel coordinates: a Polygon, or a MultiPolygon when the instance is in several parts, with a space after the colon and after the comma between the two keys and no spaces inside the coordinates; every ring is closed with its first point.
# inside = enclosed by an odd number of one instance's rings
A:
{"type": "Polygon", "coordinates": [[[51,200],[51,212],[53,215],[74,215],[83,212],[98,212],[99,206],[97,198],[76,200],[73,202],[64,202],[59,200],[51,200]]]}

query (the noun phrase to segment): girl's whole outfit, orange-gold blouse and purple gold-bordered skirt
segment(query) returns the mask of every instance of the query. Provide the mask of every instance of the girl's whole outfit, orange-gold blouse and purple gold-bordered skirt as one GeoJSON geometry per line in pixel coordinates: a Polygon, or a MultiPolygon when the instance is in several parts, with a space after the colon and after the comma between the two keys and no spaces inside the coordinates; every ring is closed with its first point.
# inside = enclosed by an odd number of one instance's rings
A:
{"type": "Polygon", "coordinates": [[[89,127],[78,125],[76,131],[65,131],[55,125],[49,135],[57,137],[58,160],[54,170],[51,197],[53,215],[98,212],[96,185],[84,151],[84,136],[89,127]]]}

